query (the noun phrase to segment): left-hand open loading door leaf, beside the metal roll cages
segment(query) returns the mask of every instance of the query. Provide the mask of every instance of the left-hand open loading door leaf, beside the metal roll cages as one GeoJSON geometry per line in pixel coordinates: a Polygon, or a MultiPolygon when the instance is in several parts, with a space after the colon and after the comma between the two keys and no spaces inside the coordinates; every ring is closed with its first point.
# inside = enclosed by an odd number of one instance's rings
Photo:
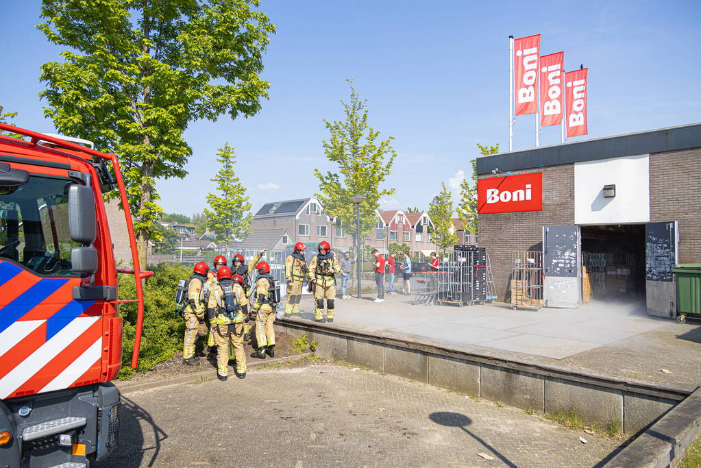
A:
{"type": "Polygon", "coordinates": [[[546,307],[579,307],[580,245],[579,226],[543,226],[543,298],[546,307]]]}

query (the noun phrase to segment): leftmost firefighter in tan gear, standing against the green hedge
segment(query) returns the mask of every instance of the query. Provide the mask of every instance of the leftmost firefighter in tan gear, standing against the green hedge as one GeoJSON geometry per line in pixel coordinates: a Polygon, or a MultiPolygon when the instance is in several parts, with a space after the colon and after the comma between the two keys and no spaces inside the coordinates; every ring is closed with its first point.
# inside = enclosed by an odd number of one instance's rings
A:
{"type": "Polygon", "coordinates": [[[183,311],[185,319],[185,337],[182,345],[182,362],[188,366],[199,366],[200,362],[195,359],[195,343],[198,336],[207,335],[207,325],[205,324],[205,291],[204,285],[207,282],[207,272],[210,268],[207,263],[200,261],[192,270],[187,285],[187,305],[183,311]]]}

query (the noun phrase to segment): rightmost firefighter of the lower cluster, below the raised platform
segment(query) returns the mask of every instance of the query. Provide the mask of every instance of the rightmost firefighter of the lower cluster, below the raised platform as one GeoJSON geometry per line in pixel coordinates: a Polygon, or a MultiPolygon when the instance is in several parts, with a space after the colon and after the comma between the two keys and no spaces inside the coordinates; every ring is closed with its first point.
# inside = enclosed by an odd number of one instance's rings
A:
{"type": "Polygon", "coordinates": [[[276,293],[275,289],[273,289],[275,280],[270,274],[268,262],[258,262],[256,270],[258,270],[258,279],[255,284],[255,296],[251,303],[251,318],[255,317],[256,321],[256,343],[258,347],[255,352],[251,353],[251,357],[265,359],[265,355],[275,357],[275,329],[273,329],[273,322],[275,322],[275,308],[278,305],[276,301],[280,300],[280,292],[278,289],[276,293]]]}

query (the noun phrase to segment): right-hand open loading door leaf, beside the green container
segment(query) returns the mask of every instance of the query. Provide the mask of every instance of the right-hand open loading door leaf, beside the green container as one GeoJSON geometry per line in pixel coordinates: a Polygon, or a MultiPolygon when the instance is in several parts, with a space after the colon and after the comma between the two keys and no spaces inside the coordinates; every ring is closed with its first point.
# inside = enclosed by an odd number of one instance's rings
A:
{"type": "Polygon", "coordinates": [[[645,225],[645,286],[648,315],[676,317],[672,268],[679,261],[676,221],[645,225]]]}

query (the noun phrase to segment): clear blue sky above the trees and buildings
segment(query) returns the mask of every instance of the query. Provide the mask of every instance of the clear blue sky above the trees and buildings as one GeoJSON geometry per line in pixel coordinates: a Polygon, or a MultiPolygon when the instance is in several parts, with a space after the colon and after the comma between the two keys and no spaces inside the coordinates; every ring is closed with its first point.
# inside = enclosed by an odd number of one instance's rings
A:
{"type": "MultiPolygon", "coordinates": [[[[381,137],[395,137],[386,184],[396,193],[383,207],[427,208],[441,182],[456,186],[469,171],[476,143],[508,149],[509,34],[543,34],[542,55],[564,50],[566,70],[589,67],[590,135],[570,141],[701,121],[700,1],[578,3],[261,0],[278,28],[264,57],[271,99],[253,118],[190,125],[189,176],[158,182],[163,208],[203,210],[227,141],[254,210],[313,195],[313,169],[329,168],[322,118],[342,118],[346,78],[381,137]]],[[[18,125],[48,132],[39,67],[60,49],[34,29],[39,5],[0,0],[0,105],[20,113],[18,125]]],[[[540,142],[559,143],[559,128],[543,129],[540,142]]],[[[514,147],[533,145],[533,116],[519,116],[514,147]]]]}

